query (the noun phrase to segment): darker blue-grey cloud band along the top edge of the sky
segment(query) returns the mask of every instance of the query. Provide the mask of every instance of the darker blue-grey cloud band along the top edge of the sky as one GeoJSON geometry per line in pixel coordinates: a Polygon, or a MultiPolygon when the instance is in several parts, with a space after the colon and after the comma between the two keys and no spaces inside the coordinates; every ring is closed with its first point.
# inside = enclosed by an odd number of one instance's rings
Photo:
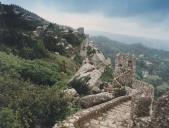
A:
{"type": "Polygon", "coordinates": [[[169,12],[168,0],[56,0],[53,5],[60,7],[62,11],[96,11],[110,17],[132,17],[157,12],[162,16],[169,12]]]}

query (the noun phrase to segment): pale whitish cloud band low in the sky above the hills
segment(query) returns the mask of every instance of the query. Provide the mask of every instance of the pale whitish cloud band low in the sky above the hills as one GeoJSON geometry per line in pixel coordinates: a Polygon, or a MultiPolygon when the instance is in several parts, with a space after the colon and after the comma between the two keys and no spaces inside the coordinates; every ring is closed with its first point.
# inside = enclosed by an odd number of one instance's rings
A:
{"type": "Polygon", "coordinates": [[[169,30],[166,29],[167,23],[161,23],[160,26],[147,27],[140,25],[130,18],[126,17],[106,17],[102,13],[76,13],[63,12],[57,9],[48,9],[41,7],[36,10],[40,16],[49,21],[72,26],[74,28],[85,27],[87,32],[102,31],[107,33],[118,33],[132,36],[142,36],[154,39],[169,40],[169,30]]]}

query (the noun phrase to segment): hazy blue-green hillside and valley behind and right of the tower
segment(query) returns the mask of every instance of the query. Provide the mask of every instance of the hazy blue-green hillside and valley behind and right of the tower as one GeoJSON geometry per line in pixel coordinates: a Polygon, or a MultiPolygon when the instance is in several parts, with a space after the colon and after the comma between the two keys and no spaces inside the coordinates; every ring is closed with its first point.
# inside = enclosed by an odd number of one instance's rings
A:
{"type": "Polygon", "coordinates": [[[137,78],[153,84],[156,96],[169,89],[169,52],[150,49],[142,44],[125,44],[102,36],[91,37],[91,40],[112,61],[118,52],[134,54],[137,57],[137,78]]]}

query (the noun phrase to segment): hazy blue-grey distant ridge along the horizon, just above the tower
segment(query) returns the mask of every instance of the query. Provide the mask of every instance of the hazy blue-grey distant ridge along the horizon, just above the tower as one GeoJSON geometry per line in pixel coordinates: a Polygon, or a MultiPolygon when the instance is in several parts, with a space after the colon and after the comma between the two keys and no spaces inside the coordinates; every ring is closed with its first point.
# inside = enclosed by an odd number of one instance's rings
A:
{"type": "Polygon", "coordinates": [[[141,43],[126,44],[120,41],[111,40],[104,36],[91,37],[91,40],[94,41],[100,49],[106,52],[106,54],[109,54],[109,56],[118,52],[125,52],[137,56],[144,54],[151,58],[169,59],[168,51],[148,48],[141,43]]]}

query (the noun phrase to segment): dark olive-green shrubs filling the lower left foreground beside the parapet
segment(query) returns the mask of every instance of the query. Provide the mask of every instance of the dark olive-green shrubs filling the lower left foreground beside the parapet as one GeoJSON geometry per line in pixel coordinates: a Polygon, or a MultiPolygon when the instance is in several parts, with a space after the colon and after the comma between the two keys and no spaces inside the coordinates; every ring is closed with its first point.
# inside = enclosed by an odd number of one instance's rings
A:
{"type": "Polygon", "coordinates": [[[71,97],[56,87],[37,87],[10,77],[1,77],[0,83],[0,118],[6,120],[0,127],[51,127],[71,113],[71,97]]]}

